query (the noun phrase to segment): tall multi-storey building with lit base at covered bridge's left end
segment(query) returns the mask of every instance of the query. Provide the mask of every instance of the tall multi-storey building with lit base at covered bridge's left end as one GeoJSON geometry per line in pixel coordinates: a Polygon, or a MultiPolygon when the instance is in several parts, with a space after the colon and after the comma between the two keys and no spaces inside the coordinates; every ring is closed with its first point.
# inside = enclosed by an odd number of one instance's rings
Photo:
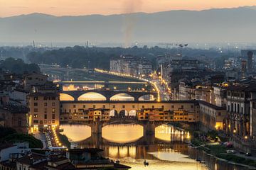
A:
{"type": "Polygon", "coordinates": [[[28,95],[28,125],[33,130],[59,125],[60,94],[50,86],[33,87],[28,95]]]}

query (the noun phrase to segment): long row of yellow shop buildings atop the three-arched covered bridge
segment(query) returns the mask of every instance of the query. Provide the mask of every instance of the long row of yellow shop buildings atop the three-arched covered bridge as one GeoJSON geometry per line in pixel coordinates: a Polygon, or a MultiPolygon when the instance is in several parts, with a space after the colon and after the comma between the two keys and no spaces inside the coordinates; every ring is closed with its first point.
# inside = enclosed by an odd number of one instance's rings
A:
{"type": "Polygon", "coordinates": [[[108,121],[112,116],[137,115],[138,120],[196,122],[198,111],[198,101],[61,101],[60,121],[108,121]]]}

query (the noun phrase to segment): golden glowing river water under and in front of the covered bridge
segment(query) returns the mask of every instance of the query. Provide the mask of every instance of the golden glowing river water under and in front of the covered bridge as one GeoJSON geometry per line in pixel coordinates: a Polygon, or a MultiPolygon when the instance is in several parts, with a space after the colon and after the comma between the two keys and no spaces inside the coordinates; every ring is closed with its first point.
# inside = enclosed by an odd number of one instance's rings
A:
{"type": "Polygon", "coordinates": [[[91,136],[87,125],[62,125],[73,147],[100,147],[104,156],[131,166],[132,170],[244,170],[188,147],[190,135],[170,125],[156,128],[155,136],[143,137],[140,125],[107,125],[102,137],[91,136]],[[196,162],[202,159],[204,163],[196,162]],[[143,162],[149,162],[144,166],[143,162]]]}

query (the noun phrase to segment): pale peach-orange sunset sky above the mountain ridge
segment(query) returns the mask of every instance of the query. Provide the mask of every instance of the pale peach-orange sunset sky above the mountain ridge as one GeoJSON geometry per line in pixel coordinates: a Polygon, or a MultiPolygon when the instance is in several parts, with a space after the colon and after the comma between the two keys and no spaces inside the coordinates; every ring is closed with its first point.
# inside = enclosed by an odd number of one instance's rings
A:
{"type": "Polygon", "coordinates": [[[255,5],[255,0],[0,0],[0,17],[35,12],[55,16],[78,16],[255,5]]]}

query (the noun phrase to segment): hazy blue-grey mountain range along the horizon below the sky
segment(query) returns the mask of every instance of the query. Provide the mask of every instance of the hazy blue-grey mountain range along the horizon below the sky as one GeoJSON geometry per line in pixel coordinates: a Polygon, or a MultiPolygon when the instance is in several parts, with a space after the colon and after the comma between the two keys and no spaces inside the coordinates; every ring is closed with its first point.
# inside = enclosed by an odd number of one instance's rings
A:
{"type": "Polygon", "coordinates": [[[0,18],[0,42],[255,42],[256,7],[0,18]]]}

